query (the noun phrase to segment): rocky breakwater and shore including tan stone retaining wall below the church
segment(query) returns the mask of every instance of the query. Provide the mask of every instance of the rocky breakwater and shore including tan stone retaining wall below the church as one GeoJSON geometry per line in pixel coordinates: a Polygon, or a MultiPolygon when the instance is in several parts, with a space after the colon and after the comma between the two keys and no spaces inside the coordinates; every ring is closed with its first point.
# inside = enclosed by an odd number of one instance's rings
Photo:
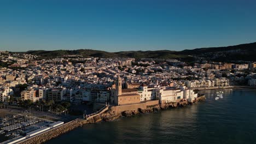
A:
{"type": "MultiPolygon", "coordinates": [[[[205,99],[205,96],[195,99],[193,103],[199,100],[205,99]]],[[[71,122],[65,123],[60,127],[51,129],[49,131],[45,131],[42,134],[31,137],[30,139],[26,139],[19,144],[28,144],[28,143],[44,143],[50,139],[54,139],[57,136],[68,133],[75,128],[81,127],[84,124],[89,123],[97,123],[101,121],[113,121],[121,116],[129,117],[132,115],[137,115],[138,113],[151,113],[155,111],[160,111],[162,109],[170,109],[175,107],[182,107],[186,105],[190,105],[193,103],[189,103],[187,100],[181,100],[177,103],[167,103],[167,104],[159,104],[158,100],[153,101],[145,101],[141,104],[132,104],[132,105],[121,105],[121,106],[107,106],[102,109],[103,111],[96,113],[95,115],[91,115],[87,119],[75,119],[71,122]]]]}

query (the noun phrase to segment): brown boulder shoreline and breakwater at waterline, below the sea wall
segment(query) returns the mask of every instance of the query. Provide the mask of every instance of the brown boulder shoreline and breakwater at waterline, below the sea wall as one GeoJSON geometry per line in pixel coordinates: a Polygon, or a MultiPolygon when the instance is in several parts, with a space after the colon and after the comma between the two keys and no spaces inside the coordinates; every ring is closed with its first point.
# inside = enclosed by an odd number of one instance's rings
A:
{"type": "Polygon", "coordinates": [[[192,105],[197,101],[201,101],[201,100],[205,100],[205,95],[202,95],[201,97],[196,98],[195,100],[193,100],[192,103],[183,99],[181,101],[178,101],[177,103],[150,105],[150,106],[147,106],[147,109],[128,110],[128,111],[122,111],[121,113],[117,113],[114,111],[114,109],[109,107],[109,110],[101,113],[101,115],[97,115],[91,119],[75,119],[74,121],[63,124],[61,127],[57,127],[53,130],[46,131],[43,134],[34,136],[31,139],[27,139],[19,143],[22,143],[22,144],[44,143],[50,139],[54,139],[57,136],[68,133],[69,131],[75,128],[82,127],[85,124],[109,122],[109,121],[114,121],[115,119],[118,119],[120,117],[130,117],[134,115],[139,115],[140,113],[154,113],[154,112],[159,112],[165,109],[174,109],[177,107],[184,107],[187,105],[192,105]]]}

